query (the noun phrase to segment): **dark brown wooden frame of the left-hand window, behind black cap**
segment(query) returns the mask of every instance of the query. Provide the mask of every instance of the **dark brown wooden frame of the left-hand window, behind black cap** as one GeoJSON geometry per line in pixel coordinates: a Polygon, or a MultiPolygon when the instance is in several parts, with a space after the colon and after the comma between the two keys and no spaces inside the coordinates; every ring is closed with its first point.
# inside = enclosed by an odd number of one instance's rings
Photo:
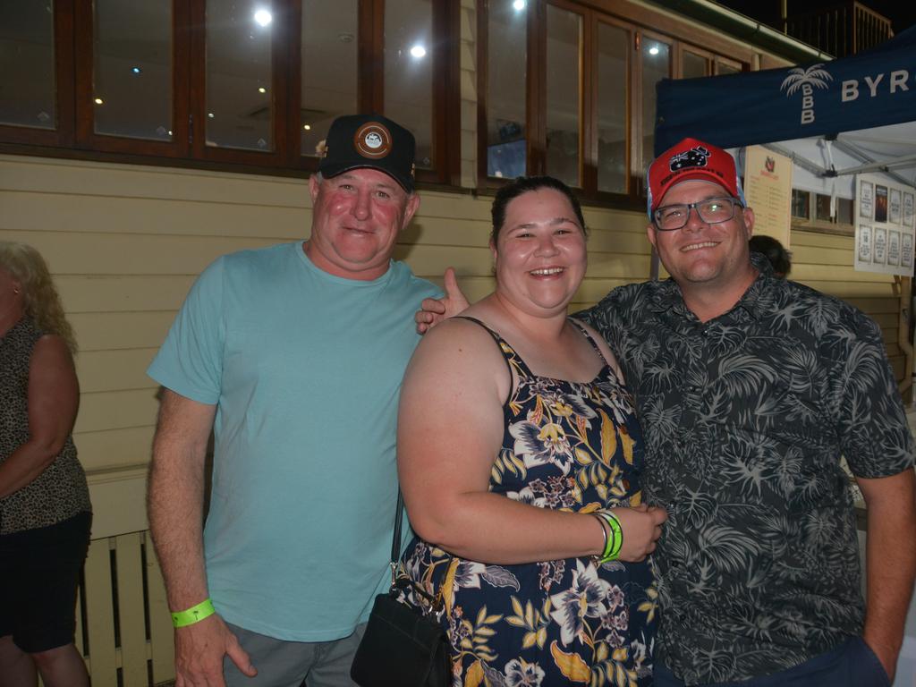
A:
{"type": "MultiPolygon", "coordinates": [[[[273,0],[271,151],[206,145],[206,0],[171,0],[172,132],[170,141],[96,134],[93,113],[93,0],[55,0],[54,130],[0,125],[0,152],[305,176],[318,160],[300,153],[300,21],[308,0],[273,0]]],[[[433,169],[420,184],[458,186],[461,179],[460,4],[432,7],[431,116],[433,169]]],[[[384,0],[358,0],[357,110],[383,112],[384,0]]]]}

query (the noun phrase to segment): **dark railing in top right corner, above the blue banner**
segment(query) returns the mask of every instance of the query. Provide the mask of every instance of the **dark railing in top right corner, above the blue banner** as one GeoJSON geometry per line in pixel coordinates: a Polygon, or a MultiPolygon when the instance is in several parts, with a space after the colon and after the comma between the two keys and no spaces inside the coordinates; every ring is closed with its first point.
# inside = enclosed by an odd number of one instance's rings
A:
{"type": "Polygon", "coordinates": [[[888,17],[857,2],[788,17],[786,33],[838,58],[874,48],[894,35],[888,17]]]}

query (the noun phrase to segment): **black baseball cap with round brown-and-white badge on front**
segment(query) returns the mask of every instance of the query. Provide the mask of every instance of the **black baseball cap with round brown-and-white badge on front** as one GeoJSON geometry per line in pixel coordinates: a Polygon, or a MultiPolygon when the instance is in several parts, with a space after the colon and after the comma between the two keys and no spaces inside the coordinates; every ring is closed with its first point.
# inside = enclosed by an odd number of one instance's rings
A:
{"type": "Polygon", "coordinates": [[[330,179],[350,169],[378,169],[410,193],[416,148],[413,134],[381,114],[337,117],[324,141],[318,171],[330,179]]]}

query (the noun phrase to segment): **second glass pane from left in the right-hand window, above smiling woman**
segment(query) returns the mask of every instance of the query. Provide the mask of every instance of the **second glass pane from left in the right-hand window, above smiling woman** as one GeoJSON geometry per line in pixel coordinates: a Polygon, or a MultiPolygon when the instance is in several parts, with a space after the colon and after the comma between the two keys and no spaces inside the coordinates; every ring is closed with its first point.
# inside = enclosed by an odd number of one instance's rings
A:
{"type": "Polygon", "coordinates": [[[579,180],[579,55],[582,16],[547,5],[547,173],[579,180]]]}

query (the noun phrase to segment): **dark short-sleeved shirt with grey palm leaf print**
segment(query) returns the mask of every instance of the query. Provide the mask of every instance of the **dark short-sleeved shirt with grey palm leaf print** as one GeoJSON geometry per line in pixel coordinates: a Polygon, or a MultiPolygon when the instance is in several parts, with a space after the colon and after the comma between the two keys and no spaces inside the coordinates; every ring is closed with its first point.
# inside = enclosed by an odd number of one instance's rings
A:
{"type": "Polygon", "coordinates": [[[913,446],[878,325],[801,284],[760,276],[700,322],[673,280],[579,313],[636,394],[644,494],[669,519],[654,555],[657,657],[688,685],[784,670],[862,631],[845,456],[898,474],[913,446]]]}

